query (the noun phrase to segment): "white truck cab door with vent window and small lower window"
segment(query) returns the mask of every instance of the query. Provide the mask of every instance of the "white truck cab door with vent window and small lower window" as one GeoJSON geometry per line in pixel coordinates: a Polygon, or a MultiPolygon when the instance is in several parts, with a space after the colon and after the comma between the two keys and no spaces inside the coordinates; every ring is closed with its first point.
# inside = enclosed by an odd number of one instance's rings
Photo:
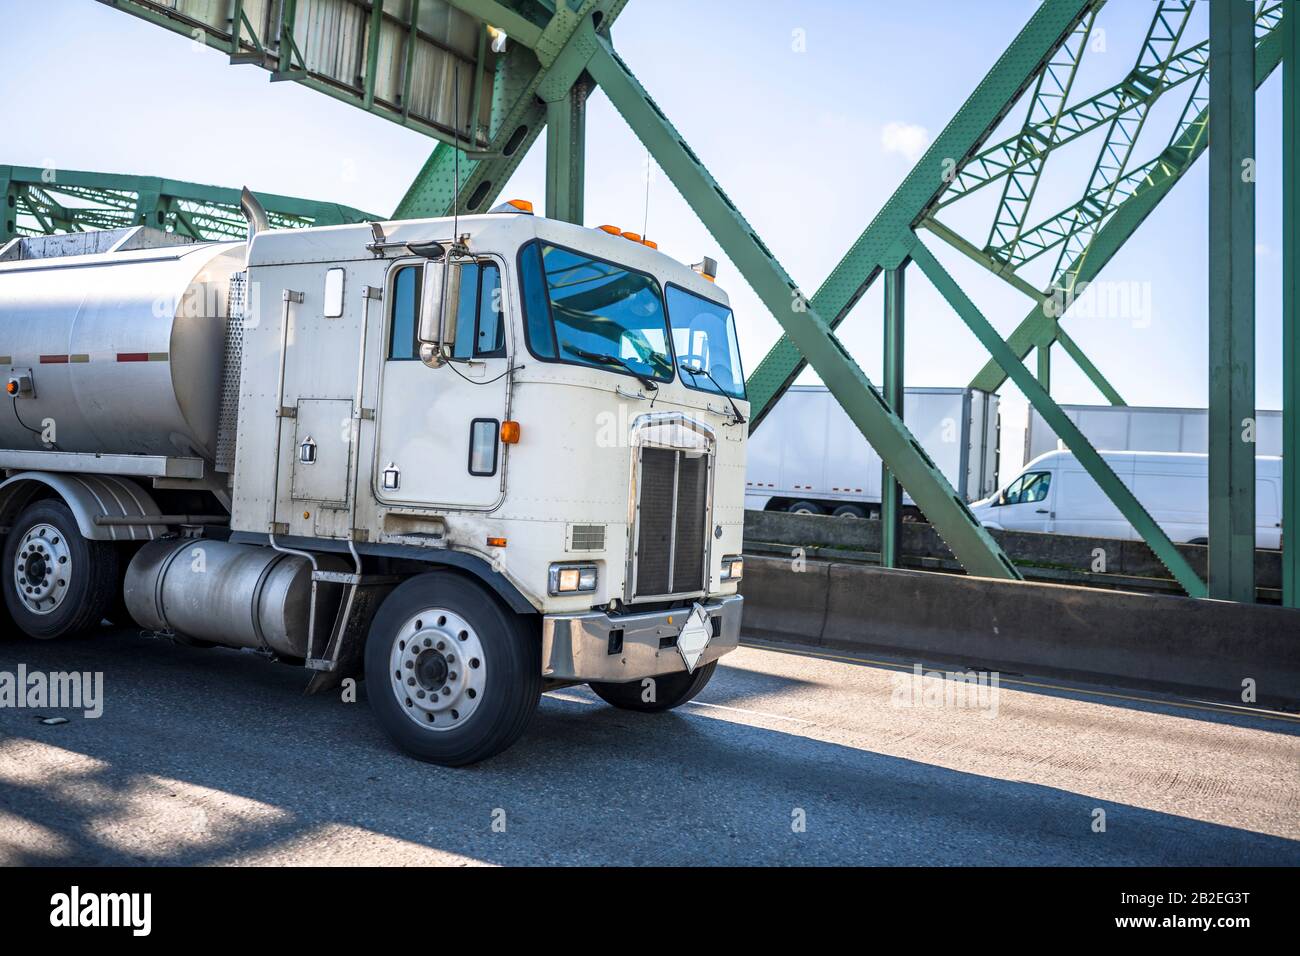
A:
{"type": "Polygon", "coordinates": [[[500,260],[464,263],[452,360],[420,360],[422,259],[389,272],[372,488],[384,505],[490,510],[504,488],[510,323],[500,260]]]}

